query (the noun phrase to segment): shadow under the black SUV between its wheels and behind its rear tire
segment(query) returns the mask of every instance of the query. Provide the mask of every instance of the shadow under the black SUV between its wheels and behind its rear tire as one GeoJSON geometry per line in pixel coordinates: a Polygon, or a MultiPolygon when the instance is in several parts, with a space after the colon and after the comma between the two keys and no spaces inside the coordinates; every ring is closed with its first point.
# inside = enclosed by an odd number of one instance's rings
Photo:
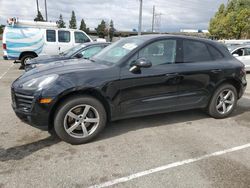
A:
{"type": "MultiPolygon", "coordinates": [[[[246,112],[250,112],[250,99],[242,98],[240,101],[238,101],[238,106],[231,114],[231,117],[237,116],[237,118],[241,118],[241,115],[246,112]]],[[[210,118],[210,116],[207,115],[203,110],[188,110],[120,120],[109,123],[96,140],[100,141],[102,139],[119,136],[130,131],[136,131],[138,129],[150,127],[175,126],[173,124],[177,123],[186,123],[187,125],[191,125],[192,121],[205,118],[210,118]]]]}

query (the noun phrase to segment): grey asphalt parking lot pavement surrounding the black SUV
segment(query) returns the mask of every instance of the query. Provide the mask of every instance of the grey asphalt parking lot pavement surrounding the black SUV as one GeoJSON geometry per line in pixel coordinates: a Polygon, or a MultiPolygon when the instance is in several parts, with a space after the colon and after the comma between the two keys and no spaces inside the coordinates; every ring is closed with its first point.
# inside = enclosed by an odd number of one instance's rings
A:
{"type": "Polygon", "coordinates": [[[122,120],[72,146],[16,118],[10,85],[22,71],[10,66],[0,61],[1,188],[249,187],[249,87],[230,118],[189,110],[122,120]]]}

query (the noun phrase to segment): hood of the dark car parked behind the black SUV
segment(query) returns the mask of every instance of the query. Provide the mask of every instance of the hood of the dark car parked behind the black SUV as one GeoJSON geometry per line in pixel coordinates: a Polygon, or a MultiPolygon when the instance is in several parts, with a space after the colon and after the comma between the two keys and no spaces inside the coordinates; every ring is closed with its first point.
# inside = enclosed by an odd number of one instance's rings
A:
{"type": "Polygon", "coordinates": [[[69,59],[69,57],[62,56],[62,55],[41,55],[28,61],[27,65],[46,64],[46,63],[51,63],[53,61],[60,61],[60,60],[66,60],[66,59],[69,59]]]}

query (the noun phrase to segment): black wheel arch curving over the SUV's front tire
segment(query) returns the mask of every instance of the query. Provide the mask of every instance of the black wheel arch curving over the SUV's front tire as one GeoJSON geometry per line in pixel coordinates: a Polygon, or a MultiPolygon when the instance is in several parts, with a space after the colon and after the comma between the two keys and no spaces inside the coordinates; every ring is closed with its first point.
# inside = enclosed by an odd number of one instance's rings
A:
{"type": "Polygon", "coordinates": [[[87,95],[90,97],[94,97],[97,99],[105,108],[105,111],[107,113],[107,119],[108,121],[111,119],[111,105],[108,102],[108,100],[101,94],[100,91],[93,89],[93,88],[87,88],[83,90],[77,90],[77,91],[69,91],[65,93],[64,95],[60,96],[55,104],[53,105],[52,109],[50,110],[50,115],[49,115],[49,130],[51,130],[54,126],[54,117],[56,114],[56,110],[58,109],[59,105],[66,99],[72,97],[72,96],[82,96],[82,95],[87,95]]]}

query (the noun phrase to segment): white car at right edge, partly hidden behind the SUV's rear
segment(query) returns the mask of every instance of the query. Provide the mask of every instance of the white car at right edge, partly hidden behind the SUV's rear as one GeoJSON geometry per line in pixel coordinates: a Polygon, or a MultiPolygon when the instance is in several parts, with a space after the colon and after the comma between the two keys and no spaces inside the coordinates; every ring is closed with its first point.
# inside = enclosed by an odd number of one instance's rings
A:
{"type": "Polygon", "coordinates": [[[250,71],[250,45],[235,46],[230,52],[234,57],[244,63],[246,71],[250,71]]]}

